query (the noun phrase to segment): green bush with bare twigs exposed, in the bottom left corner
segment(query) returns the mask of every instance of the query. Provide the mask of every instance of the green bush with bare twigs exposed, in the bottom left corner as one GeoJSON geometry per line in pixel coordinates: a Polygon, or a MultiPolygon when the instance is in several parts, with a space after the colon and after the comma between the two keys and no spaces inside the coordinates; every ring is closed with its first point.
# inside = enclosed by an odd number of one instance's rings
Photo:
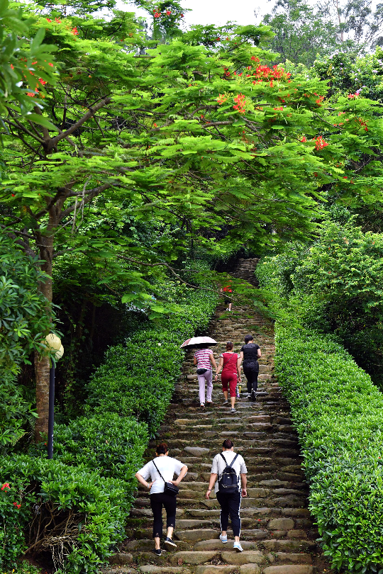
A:
{"type": "Polygon", "coordinates": [[[2,458],[0,473],[9,484],[0,502],[1,567],[33,546],[51,551],[62,572],[96,572],[123,539],[130,507],[124,481],[27,455],[2,458]]]}

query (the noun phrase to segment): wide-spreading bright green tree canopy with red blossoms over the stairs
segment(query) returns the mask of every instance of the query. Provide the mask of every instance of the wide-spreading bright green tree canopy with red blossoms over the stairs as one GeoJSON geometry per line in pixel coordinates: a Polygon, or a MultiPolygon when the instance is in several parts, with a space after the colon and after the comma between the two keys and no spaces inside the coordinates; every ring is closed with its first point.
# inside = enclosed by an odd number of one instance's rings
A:
{"type": "MultiPolygon", "coordinates": [[[[48,302],[53,261],[84,254],[100,284],[113,292],[123,281],[122,301],[155,317],[166,305],[148,271],[179,278],[174,262],[182,268],[196,249],[307,237],[318,201],[382,201],[377,103],[328,100],[326,81],[272,65],[268,26],[184,32],[177,2],[145,8],[152,33],[116,9],[106,18],[81,3],[26,7],[30,37],[45,30],[57,63],[48,61],[50,81],[46,62],[33,61],[32,113],[4,101],[0,224],[42,261],[48,302]],[[149,244],[129,218],[152,230],[149,244]]],[[[36,361],[38,389],[48,367],[36,361]]]]}

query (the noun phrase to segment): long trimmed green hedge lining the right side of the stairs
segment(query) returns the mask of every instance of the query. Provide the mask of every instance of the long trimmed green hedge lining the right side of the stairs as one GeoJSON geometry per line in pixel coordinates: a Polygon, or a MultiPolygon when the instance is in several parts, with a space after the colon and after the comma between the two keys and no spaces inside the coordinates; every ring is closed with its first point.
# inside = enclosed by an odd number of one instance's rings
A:
{"type": "Polygon", "coordinates": [[[383,395],[329,335],[277,323],[276,348],[324,552],[335,568],[382,574],[383,395]]]}

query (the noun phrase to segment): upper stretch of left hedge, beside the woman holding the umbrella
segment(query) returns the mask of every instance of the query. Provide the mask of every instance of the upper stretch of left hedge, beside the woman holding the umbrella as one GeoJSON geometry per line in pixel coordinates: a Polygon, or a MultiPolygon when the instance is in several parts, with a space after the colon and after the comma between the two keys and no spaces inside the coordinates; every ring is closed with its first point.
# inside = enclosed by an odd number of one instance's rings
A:
{"type": "Polygon", "coordinates": [[[216,293],[204,289],[183,292],[177,314],[138,331],[126,345],[109,349],[89,383],[88,416],[104,412],[133,416],[147,422],[154,436],[179,377],[184,356],[179,345],[208,325],[218,300],[216,293]]]}

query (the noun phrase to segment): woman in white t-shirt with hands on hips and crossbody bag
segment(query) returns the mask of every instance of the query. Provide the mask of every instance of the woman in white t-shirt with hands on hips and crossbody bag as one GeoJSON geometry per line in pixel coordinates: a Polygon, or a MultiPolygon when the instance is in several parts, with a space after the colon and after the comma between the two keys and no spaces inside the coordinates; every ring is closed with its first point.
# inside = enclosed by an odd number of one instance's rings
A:
{"type": "Polygon", "coordinates": [[[178,486],[184,475],[187,473],[187,466],[172,458],[167,454],[167,444],[162,442],[157,446],[155,451],[156,458],[140,468],[135,473],[135,478],[145,488],[150,488],[150,506],[153,512],[153,538],[155,539],[154,552],[161,556],[160,538],[162,536],[162,506],[166,510],[166,527],[167,534],[165,544],[177,546],[172,541],[173,530],[175,527],[175,514],[177,508],[177,497],[164,492],[165,483],[173,483],[178,486]],[[177,480],[173,480],[174,474],[177,480]],[[152,482],[148,483],[150,477],[152,482]]]}

